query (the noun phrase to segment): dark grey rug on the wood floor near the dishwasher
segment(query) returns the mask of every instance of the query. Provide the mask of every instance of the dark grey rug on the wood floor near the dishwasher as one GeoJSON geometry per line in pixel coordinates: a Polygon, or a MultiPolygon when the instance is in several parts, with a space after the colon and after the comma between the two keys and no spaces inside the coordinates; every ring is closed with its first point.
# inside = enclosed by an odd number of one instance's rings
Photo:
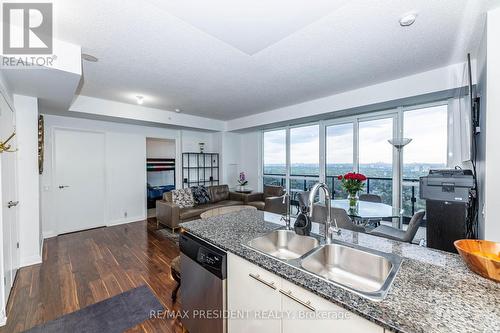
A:
{"type": "Polygon", "coordinates": [[[164,310],[146,286],[141,286],[81,310],[36,326],[29,333],[121,333],[164,310]]]}

